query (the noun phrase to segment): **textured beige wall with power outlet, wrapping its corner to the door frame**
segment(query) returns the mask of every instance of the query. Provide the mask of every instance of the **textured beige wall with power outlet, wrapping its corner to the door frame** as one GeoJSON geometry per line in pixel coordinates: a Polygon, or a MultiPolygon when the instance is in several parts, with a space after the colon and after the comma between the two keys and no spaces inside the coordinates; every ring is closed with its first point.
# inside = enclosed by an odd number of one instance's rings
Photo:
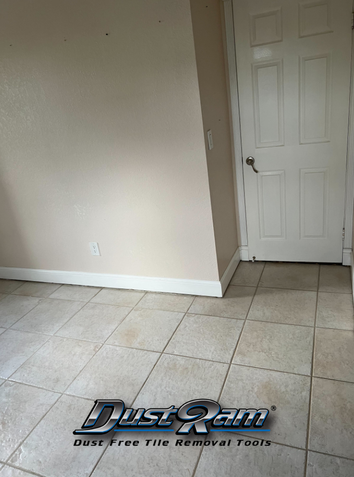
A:
{"type": "Polygon", "coordinates": [[[218,279],[236,231],[208,5],[192,2],[207,164],[188,0],[1,2],[0,265],[218,279]]]}

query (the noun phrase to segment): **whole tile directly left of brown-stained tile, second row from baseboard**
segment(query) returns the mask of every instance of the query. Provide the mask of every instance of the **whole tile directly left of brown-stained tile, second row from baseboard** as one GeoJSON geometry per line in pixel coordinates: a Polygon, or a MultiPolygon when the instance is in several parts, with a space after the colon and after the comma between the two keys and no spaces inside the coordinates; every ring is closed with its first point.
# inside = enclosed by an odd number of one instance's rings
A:
{"type": "Polygon", "coordinates": [[[56,335],[104,343],[131,309],[127,306],[87,303],[56,335]]]}

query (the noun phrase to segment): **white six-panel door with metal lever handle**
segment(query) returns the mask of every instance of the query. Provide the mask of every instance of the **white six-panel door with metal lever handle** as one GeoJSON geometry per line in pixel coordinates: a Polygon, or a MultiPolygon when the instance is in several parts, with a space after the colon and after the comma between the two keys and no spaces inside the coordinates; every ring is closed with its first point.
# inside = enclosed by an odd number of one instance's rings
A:
{"type": "Polygon", "coordinates": [[[352,7],[234,0],[250,258],[342,261],[352,7]]]}

